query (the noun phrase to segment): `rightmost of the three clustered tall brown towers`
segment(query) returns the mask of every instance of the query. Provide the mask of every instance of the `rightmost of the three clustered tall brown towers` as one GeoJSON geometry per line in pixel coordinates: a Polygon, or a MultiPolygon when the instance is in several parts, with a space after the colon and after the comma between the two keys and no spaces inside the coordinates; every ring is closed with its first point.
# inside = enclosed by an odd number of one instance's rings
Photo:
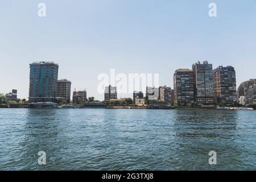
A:
{"type": "Polygon", "coordinates": [[[237,102],[236,71],[234,67],[219,66],[213,69],[214,103],[235,104],[237,102]]]}

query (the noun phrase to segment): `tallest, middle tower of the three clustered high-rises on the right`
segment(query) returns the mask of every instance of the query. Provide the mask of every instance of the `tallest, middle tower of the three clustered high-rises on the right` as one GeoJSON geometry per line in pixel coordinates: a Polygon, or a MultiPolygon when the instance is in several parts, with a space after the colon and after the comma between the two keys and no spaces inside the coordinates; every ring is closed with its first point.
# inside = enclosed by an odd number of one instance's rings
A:
{"type": "Polygon", "coordinates": [[[213,105],[213,72],[212,64],[204,61],[203,64],[198,61],[192,65],[194,77],[194,94],[197,104],[213,105]]]}

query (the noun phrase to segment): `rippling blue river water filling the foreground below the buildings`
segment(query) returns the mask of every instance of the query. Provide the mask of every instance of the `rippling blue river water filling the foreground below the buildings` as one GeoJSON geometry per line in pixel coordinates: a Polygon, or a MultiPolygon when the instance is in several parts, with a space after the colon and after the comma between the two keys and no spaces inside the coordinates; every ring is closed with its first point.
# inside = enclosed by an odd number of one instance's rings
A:
{"type": "Polygon", "coordinates": [[[256,169],[255,121],[246,110],[0,109],[0,169],[256,169]]]}

